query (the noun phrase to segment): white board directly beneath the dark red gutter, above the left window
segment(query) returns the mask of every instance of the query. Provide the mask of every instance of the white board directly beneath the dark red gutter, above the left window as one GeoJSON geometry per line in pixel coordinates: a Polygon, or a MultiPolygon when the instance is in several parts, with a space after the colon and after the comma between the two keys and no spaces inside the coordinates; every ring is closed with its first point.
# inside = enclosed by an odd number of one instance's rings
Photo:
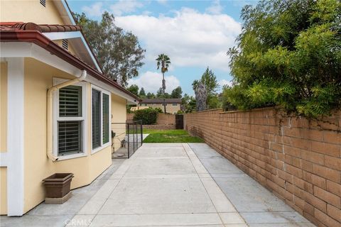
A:
{"type": "Polygon", "coordinates": [[[34,43],[0,43],[0,55],[1,57],[32,57],[40,62],[44,62],[47,65],[51,65],[59,70],[67,72],[68,74],[80,77],[82,70],[71,65],[65,60],[56,55],[51,55],[50,52],[41,48],[34,43]]]}

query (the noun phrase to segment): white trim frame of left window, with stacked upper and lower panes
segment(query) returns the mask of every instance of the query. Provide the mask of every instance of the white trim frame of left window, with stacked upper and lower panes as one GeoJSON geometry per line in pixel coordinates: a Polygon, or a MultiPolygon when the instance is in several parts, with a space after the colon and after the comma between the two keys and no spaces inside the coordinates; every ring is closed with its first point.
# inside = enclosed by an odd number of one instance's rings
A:
{"type": "MultiPolygon", "coordinates": [[[[67,82],[69,79],[53,78],[53,85],[67,82]]],[[[82,153],[60,155],[58,161],[87,156],[87,83],[73,84],[82,87],[82,117],[59,116],[59,90],[53,92],[53,155],[58,156],[58,124],[57,121],[83,121],[82,123],[82,153]]]]}

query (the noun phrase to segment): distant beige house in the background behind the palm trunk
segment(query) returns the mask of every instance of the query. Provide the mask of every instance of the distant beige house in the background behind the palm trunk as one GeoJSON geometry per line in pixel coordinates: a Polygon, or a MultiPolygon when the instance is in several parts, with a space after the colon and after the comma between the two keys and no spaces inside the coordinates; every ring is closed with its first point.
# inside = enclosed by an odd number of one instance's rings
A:
{"type": "MultiPolygon", "coordinates": [[[[163,99],[142,99],[139,106],[131,107],[131,111],[145,108],[160,108],[163,109],[163,99]]],[[[169,114],[176,114],[181,109],[181,99],[166,99],[166,112],[169,114]]]]}

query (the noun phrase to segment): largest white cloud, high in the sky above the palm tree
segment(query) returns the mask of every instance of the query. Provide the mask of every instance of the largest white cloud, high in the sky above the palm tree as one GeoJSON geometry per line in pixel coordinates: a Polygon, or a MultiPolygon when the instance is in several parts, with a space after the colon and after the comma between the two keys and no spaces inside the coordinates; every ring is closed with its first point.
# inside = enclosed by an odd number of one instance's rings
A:
{"type": "Polygon", "coordinates": [[[172,65],[229,71],[228,48],[241,31],[227,14],[212,15],[183,8],[170,16],[118,16],[117,26],[132,31],[146,48],[146,62],[165,53],[172,65]]]}

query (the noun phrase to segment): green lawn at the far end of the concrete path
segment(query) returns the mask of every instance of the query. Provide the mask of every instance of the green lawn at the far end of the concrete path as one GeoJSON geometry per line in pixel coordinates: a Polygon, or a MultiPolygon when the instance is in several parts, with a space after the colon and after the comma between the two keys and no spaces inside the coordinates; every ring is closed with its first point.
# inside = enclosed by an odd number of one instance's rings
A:
{"type": "Polygon", "coordinates": [[[201,138],[191,136],[183,129],[175,130],[157,130],[144,129],[144,133],[148,133],[148,137],[144,139],[144,143],[202,143],[201,138]]]}

